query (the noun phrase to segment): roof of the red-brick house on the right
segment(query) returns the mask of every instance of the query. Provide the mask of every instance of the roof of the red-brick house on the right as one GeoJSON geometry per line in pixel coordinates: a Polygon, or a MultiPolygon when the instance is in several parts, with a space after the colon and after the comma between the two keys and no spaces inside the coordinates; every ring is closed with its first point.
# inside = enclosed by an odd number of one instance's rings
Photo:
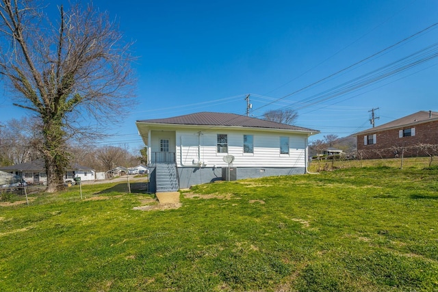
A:
{"type": "Polygon", "coordinates": [[[381,124],[378,127],[355,133],[353,134],[353,136],[363,135],[367,133],[376,133],[390,129],[400,129],[402,127],[415,126],[415,124],[424,124],[426,122],[435,121],[438,121],[437,111],[418,111],[415,114],[393,120],[392,122],[387,122],[386,124],[381,124]]]}

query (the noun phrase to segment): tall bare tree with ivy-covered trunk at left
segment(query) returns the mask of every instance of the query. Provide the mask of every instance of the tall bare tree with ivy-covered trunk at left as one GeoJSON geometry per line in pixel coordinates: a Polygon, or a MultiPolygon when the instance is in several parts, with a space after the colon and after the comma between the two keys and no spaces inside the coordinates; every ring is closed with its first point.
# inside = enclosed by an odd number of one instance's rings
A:
{"type": "Polygon", "coordinates": [[[132,105],[134,79],[129,44],[107,14],[77,3],[68,11],[60,6],[53,23],[40,2],[0,1],[0,74],[14,105],[40,120],[47,191],[57,191],[69,163],[68,139],[90,129],[96,135],[132,105]]]}

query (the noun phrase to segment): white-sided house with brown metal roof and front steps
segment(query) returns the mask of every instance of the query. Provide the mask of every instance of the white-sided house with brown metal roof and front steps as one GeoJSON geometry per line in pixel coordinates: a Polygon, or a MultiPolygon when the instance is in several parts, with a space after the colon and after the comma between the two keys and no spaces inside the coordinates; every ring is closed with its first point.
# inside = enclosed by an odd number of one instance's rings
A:
{"type": "Polygon", "coordinates": [[[319,131],[237,114],[201,112],[136,122],[148,149],[151,191],[222,180],[304,174],[307,139],[319,131]],[[173,172],[173,174],[172,174],[173,172]],[[226,172],[224,172],[226,173],[226,172]]]}

